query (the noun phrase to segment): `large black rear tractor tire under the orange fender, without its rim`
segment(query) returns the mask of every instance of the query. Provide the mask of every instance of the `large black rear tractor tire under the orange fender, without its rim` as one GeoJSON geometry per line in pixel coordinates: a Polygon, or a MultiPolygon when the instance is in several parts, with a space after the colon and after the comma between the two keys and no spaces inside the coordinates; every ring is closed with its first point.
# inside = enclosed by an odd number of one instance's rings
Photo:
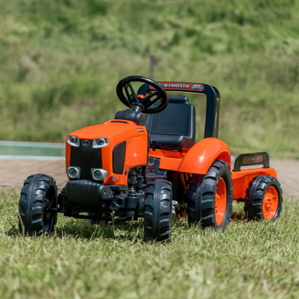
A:
{"type": "Polygon", "coordinates": [[[215,160],[205,175],[193,174],[187,194],[188,223],[201,223],[202,227],[225,228],[229,223],[233,207],[233,182],[227,162],[215,160]],[[215,194],[220,178],[226,185],[226,209],[223,221],[216,223],[215,194]]]}

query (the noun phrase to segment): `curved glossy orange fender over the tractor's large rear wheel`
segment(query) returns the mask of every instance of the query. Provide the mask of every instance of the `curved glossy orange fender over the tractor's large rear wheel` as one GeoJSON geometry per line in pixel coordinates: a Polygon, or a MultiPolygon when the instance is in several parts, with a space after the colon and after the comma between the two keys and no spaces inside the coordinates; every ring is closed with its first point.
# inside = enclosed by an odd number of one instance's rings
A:
{"type": "Polygon", "coordinates": [[[187,151],[178,171],[206,174],[215,159],[226,161],[231,167],[229,146],[218,138],[204,138],[187,151]]]}

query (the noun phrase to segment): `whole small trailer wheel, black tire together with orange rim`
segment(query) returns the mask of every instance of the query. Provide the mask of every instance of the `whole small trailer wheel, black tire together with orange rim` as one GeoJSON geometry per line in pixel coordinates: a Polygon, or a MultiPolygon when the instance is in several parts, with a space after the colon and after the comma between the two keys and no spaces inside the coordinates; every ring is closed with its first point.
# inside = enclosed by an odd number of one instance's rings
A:
{"type": "Polygon", "coordinates": [[[255,177],[246,190],[244,210],[249,219],[275,220],[282,211],[282,189],[271,175],[255,177]]]}

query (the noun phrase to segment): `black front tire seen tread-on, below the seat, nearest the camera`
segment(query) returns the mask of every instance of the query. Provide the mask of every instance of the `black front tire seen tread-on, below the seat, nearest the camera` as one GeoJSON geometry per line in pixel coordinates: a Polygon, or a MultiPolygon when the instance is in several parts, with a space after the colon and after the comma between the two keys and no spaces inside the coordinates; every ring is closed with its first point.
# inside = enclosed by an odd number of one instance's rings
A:
{"type": "Polygon", "coordinates": [[[144,229],[146,240],[163,241],[171,237],[171,182],[155,179],[145,189],[144,229]]]}

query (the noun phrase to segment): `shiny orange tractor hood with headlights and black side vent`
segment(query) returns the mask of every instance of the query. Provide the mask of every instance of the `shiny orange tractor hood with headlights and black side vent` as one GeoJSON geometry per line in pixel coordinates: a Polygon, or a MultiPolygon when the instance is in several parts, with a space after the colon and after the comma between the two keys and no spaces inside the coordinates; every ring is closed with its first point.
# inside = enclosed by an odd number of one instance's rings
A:
{"type": "Polygon", "coordinates": [[[110,120],[74,131],[66,140],[66,168],[77,167],[70,179],[94,180],[94,169],[102,169],[104,184],[127,184],[130,168],[147,164],[148,132],[131,121],[110,120]],[[107,174],[107,176],[106,176],[107,174]]]}

